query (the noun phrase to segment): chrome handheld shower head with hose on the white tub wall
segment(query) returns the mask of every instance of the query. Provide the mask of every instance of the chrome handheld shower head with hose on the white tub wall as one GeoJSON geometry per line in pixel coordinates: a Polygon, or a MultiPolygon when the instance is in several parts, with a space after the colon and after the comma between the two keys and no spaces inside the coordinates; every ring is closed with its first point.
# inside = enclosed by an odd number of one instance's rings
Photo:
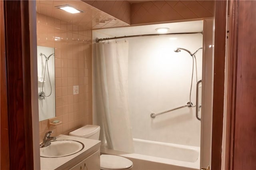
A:
{"type": "MultiPolygon", "coordinates": [[[[192,60],[193,60],[193,62],[192,62],[191,83],[190,83],[190,93],[189,93],[189,102],[190,102],[190,105],[191,105],[192,107],[195,107],[195,106],[196,106],[196,105],[193,105],[193,104],[192,104],[192,101],[191,101],[191,92],[192,92],[192,84],[193,84],[193,77],[194,77],[194,65],[196,65],[196,82],[198,82],[198,79],[197,79],[196,53],[197,53],[200,49],[203,49],[203,48],[202,48],[202,47],[198,48],[194,53],[192,53],[191,51],[189,51],[189,50],[186,49],[186,48],[180,48],[180,47],[178,47],[178,48],[174,49],[174,52],[177,52],[177,53],[180,52],[181,50],[184,50],[184,51],[188,52],[188,53],[191,55],[192,60]],[[194,62],[195,62],[195,64],[194,64],[194,62]]],[[[196,103],[196,102],[194,102],[194,103],[196,103]]]]}

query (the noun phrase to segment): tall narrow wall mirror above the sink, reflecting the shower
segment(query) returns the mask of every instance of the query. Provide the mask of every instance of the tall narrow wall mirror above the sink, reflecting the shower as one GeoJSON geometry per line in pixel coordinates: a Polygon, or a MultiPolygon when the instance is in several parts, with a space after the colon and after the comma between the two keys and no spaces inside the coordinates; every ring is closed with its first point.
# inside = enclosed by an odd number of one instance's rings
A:
{"type": "Polygon", "coordinates": [[[39,121],[55,117],[54,48],[37,46],[39,121]]]}

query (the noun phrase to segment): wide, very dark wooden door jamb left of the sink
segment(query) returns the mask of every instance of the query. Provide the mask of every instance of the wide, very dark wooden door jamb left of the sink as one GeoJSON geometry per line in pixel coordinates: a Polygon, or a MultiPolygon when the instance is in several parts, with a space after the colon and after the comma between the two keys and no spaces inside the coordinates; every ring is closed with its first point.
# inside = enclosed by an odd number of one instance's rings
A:
{"type": "Polygon", "coordinates": [[[10,169],[33,167],[28,11],[28,1],[4,1],[10,169]]]}

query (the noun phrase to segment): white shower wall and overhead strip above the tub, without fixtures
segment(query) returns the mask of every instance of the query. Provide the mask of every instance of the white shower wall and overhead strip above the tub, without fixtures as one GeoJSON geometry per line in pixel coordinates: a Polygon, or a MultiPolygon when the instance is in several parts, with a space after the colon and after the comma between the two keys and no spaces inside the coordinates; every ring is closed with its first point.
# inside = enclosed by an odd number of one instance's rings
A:
{"type": "MultiPolygon", "coordinates": [[[[154,34],[150,30],[154,31],[158,27],[168,27],[171,32],[200,32],[203,30],[203,22],[112,28],[95,30],[92,35],[93,38],[106,38],[154,34]]],[[[202,37],[201,34],[183,34],[126,39],[129,41],[128,101],[133,138],[200,146],[201,124],[196,119],[195,107],[178,109],[158,115],[155,119],[150,114],[180,107],[189,101],[192,57],[186,51],[176,53],[174,49],[182,47],[194,52],[202,47],[202,37]]],[[[196,53],[196,61],[198,80],[201,80],[202,50],[196,53]]],[[[195,73],[194,69],[193,105],[196,104],[195,73]]]]}

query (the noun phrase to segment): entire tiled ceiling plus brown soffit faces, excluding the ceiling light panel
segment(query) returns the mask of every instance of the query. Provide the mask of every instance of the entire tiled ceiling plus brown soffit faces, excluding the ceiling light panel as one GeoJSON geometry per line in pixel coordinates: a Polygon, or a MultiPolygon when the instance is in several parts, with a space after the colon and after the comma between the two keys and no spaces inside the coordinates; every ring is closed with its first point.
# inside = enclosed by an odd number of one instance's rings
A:
{"type": "Polygon", "coordinates": [[[132,4],[125,0],[36,1],[38,13],[83,26],[85,29],[209,18],[213,16],[213,8],[213,0],[156,0],[132,4]],[[55,8],[66,4],[85,12],[69,14],[55,8]]]}

